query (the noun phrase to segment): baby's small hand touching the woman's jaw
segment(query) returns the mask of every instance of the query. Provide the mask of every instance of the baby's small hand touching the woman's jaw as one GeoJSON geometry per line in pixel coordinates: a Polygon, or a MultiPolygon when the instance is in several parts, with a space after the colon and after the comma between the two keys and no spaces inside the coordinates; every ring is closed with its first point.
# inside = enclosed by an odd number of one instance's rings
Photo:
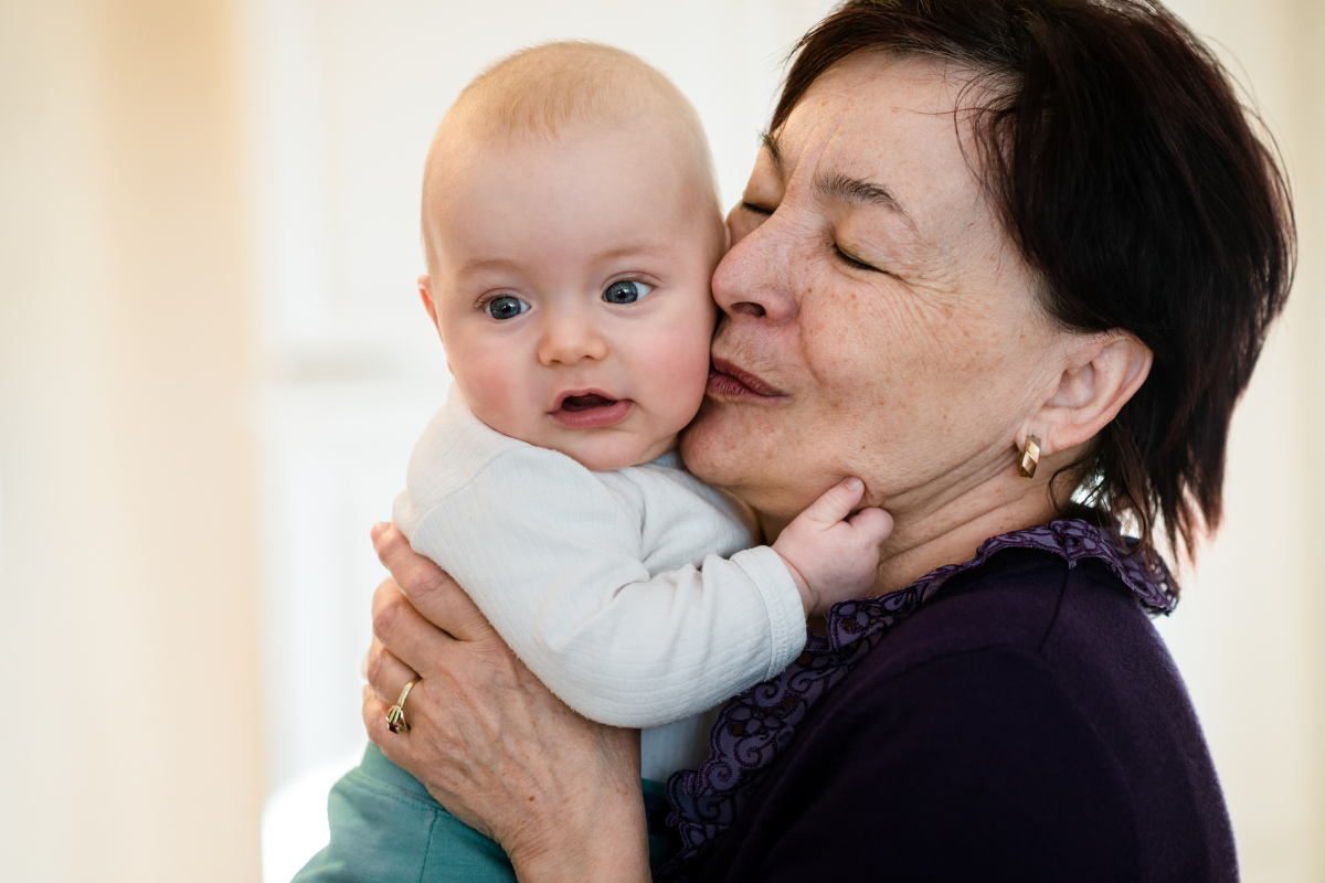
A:
{"type": "Polygon", "coordinates": [[[893,516],[881,508],[851,515],[864,494],[859,478],[843,481],[798,515],[772,544],[800,589],[806,616],[864,597],[874,584],[878,547],[893,532],[893,516]]]}

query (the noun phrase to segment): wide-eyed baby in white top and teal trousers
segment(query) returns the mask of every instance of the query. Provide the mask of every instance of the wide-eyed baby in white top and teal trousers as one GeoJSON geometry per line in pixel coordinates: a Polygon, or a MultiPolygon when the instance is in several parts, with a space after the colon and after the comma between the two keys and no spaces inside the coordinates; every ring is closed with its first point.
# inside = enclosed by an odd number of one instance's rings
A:
{"type": "MultiPolygon", "coordinates": [[[[594,44],[478,77],[428,154],[424,306],[454,387],[395,519],[584,716],[644,728],[645,790],[708,756],[710,710],[782,671],[814,609],[867,594],[890,520],[829,488],[771,545],[685,471],[726,248],[698,118],[594,44]]],[[[408,715],[408,706],[405,707],[408,715]]],[[[511,880],[501,849],[370,748],[299,880],[511,880]]]]}

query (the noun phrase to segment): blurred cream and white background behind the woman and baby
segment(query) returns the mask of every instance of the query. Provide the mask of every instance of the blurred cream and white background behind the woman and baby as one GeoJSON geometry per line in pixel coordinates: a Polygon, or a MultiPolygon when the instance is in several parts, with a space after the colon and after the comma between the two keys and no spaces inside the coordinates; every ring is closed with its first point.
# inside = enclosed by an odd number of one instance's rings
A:
{"type": "MultiPolygon", "coordinates": [[[[368,526],[448,383],[420,164],[539,40],[624,45],[737,199],[820,0],[0,0],[0,879],[289,879],[362,748],[368,526]],[[265,812],[265,821],[264,821],[265,812]],[[265,851],[260,831],[266,831],[265,851]]],[[[1175,0],[1284,150],[1301,269],[1161,630],[1252,882],[1325,880],[1325,3],[1175,0]]]]}

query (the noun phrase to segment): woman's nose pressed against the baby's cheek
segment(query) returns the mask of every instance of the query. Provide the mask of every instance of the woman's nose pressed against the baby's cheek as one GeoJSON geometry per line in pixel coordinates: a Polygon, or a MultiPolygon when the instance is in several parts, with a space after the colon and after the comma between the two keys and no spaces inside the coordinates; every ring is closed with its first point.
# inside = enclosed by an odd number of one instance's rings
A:
{"type": "Polygon", "coordinates": [[[774,214],[731,246],[713,271],[713,298],[723,312],[776,324],[796,316],[788,273],[792,233],[774,214]]]}

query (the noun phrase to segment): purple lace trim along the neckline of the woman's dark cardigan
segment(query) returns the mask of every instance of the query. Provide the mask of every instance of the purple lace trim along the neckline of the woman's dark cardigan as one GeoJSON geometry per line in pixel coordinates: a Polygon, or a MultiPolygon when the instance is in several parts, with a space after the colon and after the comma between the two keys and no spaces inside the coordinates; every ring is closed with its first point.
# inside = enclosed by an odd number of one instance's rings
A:
{"type": "Polygon", "coordinates": [[[1158,557],[1146,564],[1141,556],[1129,555],[1134,545],[1136,540],[1120,539],[1088,522],[1061,519],[991,537],[970,561],[941,567],[905,589],[835,605],[828,612],[827,635],[810,633],[804,651],[780,675],[731,699],[713,727],[709,759],[700,769],[681,770],[668,781],[668,823],[678,829],[682,847],[659,868],[656,879],[689,878],[696,860],[731,827],[811,707],[945,581],[1007,548],[1041,549],[1063,556],[1069,568],[1083,559],[1098,559],[1151,616],[1171,613],[1178,604],[1173,576],[1158,557]]]}

